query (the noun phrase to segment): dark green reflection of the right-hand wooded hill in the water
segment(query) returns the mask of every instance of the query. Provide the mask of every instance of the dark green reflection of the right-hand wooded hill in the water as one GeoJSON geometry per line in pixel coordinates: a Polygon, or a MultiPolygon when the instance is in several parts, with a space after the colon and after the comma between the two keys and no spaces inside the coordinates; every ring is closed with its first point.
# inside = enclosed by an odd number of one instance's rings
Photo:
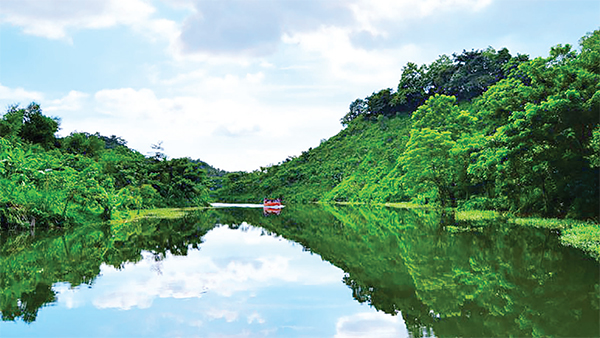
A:
{"type": "Polygon", "coordinates": [[[598,336],[598,265],[549,230],[452,213],[303,206],[223,210],[346,271],[354,298],[401,313],[412,336],[598,336]]]}

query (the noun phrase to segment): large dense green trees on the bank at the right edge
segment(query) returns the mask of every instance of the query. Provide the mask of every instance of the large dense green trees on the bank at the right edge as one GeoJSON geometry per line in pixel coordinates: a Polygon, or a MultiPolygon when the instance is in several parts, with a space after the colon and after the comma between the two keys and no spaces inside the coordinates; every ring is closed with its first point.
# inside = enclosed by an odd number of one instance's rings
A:
{"type": "MultiPolygon", "coordinates": [[[[548,58],[521,63],[484,94],[479,116],[488,143],[469,172],[493,182],[497,205],[519,213],[597,217],[598,168],[593,134],[600,123],[600,73],[588,64],[600,47],[582,39],[548,58]],[[590,162],[592,161],[592,162],[590,162]]],[[[490,189],[486,189],[491,192],[490,189]]]]}

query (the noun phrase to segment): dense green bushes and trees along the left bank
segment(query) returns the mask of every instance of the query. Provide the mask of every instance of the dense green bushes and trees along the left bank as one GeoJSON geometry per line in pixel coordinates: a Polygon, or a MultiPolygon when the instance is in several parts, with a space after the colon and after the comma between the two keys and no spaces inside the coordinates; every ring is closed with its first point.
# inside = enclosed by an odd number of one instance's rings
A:
{"type": "Polygon", "coordinates": [[[116,136],[72,133],[39,105],[13,106],[0,119],[0,227],[65,226],[109,220],[120,210],[202,206],[204,163],[152,157],[116,136]]]}

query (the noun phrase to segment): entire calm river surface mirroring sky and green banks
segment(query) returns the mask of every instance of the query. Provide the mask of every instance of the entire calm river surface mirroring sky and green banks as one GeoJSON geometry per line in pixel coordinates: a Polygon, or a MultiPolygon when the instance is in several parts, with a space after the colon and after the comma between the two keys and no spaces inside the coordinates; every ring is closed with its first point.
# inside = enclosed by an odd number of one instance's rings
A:
{"type": "Polygon", "coordinates": [[[557,238],[316,206],[5,234],[0,336],[598,336],[599,265],[557,238]]]}

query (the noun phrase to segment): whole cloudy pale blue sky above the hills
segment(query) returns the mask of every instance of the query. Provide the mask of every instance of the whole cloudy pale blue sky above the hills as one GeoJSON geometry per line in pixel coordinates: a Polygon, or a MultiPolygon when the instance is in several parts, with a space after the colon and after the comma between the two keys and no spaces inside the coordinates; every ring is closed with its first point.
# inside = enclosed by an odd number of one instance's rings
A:
{"type": "Polygon", "coordinates": [[[0,108],[253,170],[335,135],[409,61],[547,56],[599,26],[597,0],[2,0],[0,108]]]}

